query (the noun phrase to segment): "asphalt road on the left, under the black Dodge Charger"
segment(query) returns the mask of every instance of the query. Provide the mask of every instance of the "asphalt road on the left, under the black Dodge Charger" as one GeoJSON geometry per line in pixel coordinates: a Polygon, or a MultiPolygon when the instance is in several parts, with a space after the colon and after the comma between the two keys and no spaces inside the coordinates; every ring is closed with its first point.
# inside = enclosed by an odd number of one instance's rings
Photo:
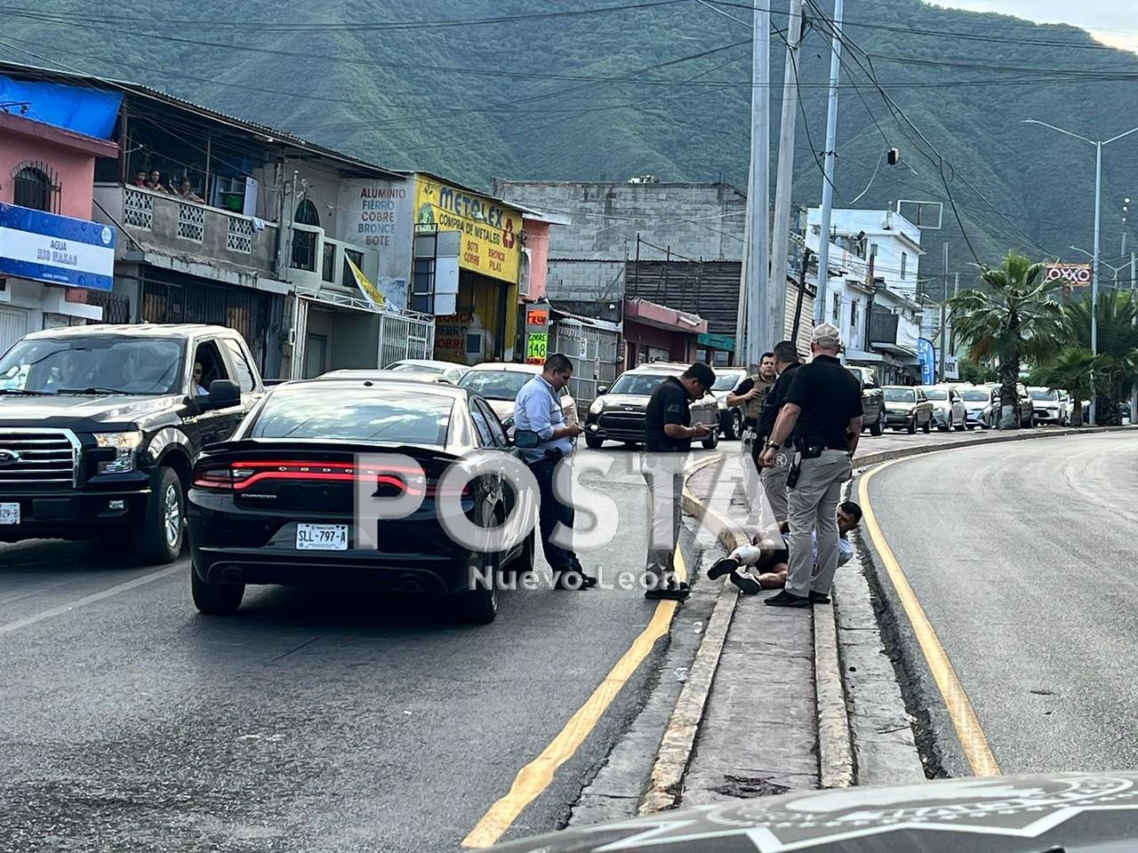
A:
{"type": "MultiPolygon", "coordinates": [[[[643,481],[596,488],[620,527],[586,565],[638,570],[643,481]]],[[[454,851],[655,606],[519,590],[461,627],[429,599],[250,588],[218,619],[188,573],[0,545],[0,851],[454,851]]],[[[506,838],[563,822],[660,653],[506,838]]]]}

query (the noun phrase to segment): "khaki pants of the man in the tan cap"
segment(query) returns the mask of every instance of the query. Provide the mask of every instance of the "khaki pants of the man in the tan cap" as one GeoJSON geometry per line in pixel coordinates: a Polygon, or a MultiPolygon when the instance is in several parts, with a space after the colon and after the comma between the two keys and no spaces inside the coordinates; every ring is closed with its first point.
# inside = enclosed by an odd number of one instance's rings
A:
{"type": "Polygon", "coordinates": [[[830,594],[838,571],[838,502],[842,483],[851,473],[852,464],[844,450],[823,450],[816,459],[802,459],[798,485],[787,491],[787,593],[798,596],[809,595],[811,590],[830,594]],[[817,564],[810,541],[811,531],[817,532],[817,564]]]}

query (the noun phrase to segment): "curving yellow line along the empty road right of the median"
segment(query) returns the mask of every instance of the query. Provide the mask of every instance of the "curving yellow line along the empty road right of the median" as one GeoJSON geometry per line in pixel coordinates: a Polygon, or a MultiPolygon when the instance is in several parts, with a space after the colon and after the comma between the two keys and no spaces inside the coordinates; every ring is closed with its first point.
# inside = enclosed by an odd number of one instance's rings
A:
{"type": "Polygon", "coordinates": [[[904,459],[884,462],[868,471],[858,482],[858,498],[861,502],[865,529],[868,531],[869,538],[873,539],[874,548],[877,550],[881,562],[884,563],[885,571],[889,572],[889,579],[893,582],[897,597],[900,598],[905,613],[909,618],[913,632],[916,635],[917,643],[921,644],[921,651],[929,663],[937,687],[940,688],[940,695],[945,697],[949,719],[956,729],[960,746],[964,747],[968,764],[972,765],[973,775],[999,776],[999,764],[996,763],[996,756],[992,755],[991,747],[988,745],[988,738],[984,737],[972,702],[956,677],[956,670],[953,669],[953,663],[948,660],[943,646],[940,645],[937,631],[925,615],[924,607],[917,601],[916,593],[909,586],[905,572],[901,571],[901,565],[897,562],[892,548],[885,541],[881,527],[877,524],[877,516],[874,514],[873,507],[869,506],[869,481],[879,471],[883,471],[897,462],[904,462],[904,459]]]}

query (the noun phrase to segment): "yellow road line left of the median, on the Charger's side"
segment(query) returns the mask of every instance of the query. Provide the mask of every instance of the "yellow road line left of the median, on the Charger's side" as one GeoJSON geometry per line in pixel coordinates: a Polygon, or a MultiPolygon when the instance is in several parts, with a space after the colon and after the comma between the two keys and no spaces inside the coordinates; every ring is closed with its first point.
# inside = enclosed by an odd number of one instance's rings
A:
{"type": "MultiPolygon", "coordinates": [[[[676,548],[676,578],[685,580],[687,568],[676,548]]],[[[585,742],[609,705],[620,693],[633,673],[640,668],[652,651],[655,641],[668,633],[671,616],[676,612],[677,602],[661,601],[655,605],[655,612],[648,627],[633,640],[633,645],[617,661],[617,664],[604,677],[604,680],[593,690],[577,713],[558,734],[542,754],[526,764],[513,779],[510,792],[490,806],[478,825],[462,839],[463,847],[489,847],[518,819],[522,809],[545,790],[553,781],[553,773],[566,763],[577,748],[585,742]]]]}

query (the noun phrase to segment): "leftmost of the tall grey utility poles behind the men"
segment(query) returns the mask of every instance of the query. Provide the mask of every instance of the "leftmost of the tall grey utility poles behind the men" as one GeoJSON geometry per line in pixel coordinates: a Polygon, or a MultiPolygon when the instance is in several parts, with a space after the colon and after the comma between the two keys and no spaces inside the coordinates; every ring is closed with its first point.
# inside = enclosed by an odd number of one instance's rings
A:
{"type": "Polygon", "coordinates": [[[759,363],[770,313],[770,9],[765,3],[766,0],[754,3],[751,38],[751,169],[747,191],[747,260],[743,267],[747,297],[743,337],[748,367],[759,363]]]}

